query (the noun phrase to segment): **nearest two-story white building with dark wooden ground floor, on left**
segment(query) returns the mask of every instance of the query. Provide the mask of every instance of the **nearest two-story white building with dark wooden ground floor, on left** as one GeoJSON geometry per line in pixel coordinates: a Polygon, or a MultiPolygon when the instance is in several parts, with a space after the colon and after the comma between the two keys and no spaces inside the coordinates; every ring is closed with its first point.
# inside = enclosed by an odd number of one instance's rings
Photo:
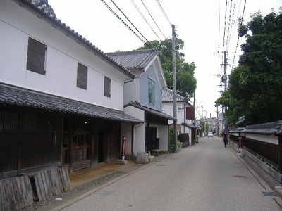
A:
{"type": "Polygon", "coordinates": [[[0,31],[0,179],[120,158],[121,124],[142,122],[123,112],[135,75],[47,1],[0,1],[0,31]]]}

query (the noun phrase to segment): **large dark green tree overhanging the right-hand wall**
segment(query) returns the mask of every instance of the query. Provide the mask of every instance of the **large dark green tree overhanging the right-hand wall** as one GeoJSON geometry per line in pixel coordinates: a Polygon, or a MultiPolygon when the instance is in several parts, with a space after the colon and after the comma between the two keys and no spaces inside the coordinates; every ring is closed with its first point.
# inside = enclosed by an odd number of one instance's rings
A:
{"type": "Polygon", "coordinates": [[[282,13],[251,18],[247,25],[239,21],[239,35],[246,37],[243,55],[216,105],[228,106],[233,123],[243,115],[247,124],[282,120],[282,13]]]}

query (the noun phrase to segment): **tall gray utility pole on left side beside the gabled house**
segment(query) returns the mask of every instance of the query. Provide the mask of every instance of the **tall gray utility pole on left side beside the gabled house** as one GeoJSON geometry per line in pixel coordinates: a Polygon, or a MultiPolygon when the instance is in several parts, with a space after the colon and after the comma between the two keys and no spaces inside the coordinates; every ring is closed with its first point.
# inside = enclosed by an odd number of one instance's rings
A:
{"type": "Polygon", "coordinates": [[[176,108],[176,31],[175,26],[172,27],[172,67],[173,67],[173,144],[174,153],[177,153],[177,108],[176,108]]]}

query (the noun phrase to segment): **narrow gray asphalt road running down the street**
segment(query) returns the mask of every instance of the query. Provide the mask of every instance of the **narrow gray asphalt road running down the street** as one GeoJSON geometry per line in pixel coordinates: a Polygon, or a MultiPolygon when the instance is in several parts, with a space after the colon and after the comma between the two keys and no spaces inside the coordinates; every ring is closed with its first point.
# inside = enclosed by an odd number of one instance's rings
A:
{"type": "Polygon", "coordinates": [[[62,210],[281,210],[257,174],[218,137],[129,174],[62,210]]]}

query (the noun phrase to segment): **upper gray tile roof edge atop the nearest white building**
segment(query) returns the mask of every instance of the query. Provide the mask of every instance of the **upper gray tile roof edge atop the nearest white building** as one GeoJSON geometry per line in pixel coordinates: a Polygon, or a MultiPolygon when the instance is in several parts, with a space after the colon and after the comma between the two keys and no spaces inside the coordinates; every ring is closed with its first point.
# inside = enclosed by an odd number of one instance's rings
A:
{"type": "Polygon", "coordinates": [[[117,68],[118,71],[123,72],[123,74],[127,75],[132,79],[135,77],[133,72],[130,72],[130,70],[125,68],[123,65],[117,63],[112,58],[109,58],[109,56],[107,56],[103,51],[101,51],[92,43],[90,43],[90,41],[82,37],[82,35],[78,34],[78,32],[75,32],[75,30],[72,30],[71,27],[67,26],[65,23],[62,23],[61,20],[56,18],[53,9],[51,8],[51,6],[48,4],[46,0],[19,0],[19,1],[32,8],[34,11],[37,11],[37,13],[44,16],[44,18],[50,20],[51,23],[54,23],[54,25],[56,25],[56,27],[61,27],[61,29],[63,29],[66,32],[66,34],[70,34],[70,36],[73,36],[75,39],[78,39],[79,42],[85,44],[87,48],[94,51],[94,53],[97,56],[99,56],[103,60],[106,60],[106,62],[114,65],[114,67],[117,68]]]}

